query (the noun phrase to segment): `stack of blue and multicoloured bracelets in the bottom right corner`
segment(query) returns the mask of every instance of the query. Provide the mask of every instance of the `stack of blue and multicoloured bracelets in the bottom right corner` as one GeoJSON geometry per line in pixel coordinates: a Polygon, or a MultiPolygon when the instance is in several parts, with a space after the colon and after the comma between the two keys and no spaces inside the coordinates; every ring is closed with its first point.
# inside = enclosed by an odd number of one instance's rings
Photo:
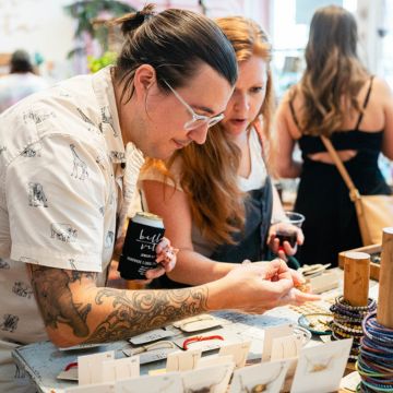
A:
{"type": "Polygon", "coordinates": [[[377,322],[377,312],[368,314],[360,341],[356,368],[361,392],[393,392],[393,330],[377,322]]]}

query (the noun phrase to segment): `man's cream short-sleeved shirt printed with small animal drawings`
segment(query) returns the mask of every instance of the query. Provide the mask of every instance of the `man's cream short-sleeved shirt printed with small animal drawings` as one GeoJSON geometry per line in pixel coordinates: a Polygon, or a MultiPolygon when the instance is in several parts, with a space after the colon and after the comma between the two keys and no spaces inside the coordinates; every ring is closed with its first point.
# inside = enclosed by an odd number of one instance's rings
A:
{"type": "Polygon", "coordinates": [[[124,150],[109,69],[0,116],[0,340],[46,336],[25,263],[105,272],[143,160],[124,150]]]}

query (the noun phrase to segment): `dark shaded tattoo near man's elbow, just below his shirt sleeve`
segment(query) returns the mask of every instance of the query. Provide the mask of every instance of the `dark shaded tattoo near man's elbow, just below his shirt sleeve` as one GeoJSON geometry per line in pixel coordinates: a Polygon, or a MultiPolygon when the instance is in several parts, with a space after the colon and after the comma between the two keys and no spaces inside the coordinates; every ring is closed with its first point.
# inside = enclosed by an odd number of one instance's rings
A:
{"type": "Polygon", "coordinates": [[[31,265],[32,284],[46,326],[58,327],[66,323],[78,337],[88,336],[86,318],[92,305],[75,303],[70,284],[86,277],[94,281],[96,273],[66,271],[61,269],[31,265]]]}

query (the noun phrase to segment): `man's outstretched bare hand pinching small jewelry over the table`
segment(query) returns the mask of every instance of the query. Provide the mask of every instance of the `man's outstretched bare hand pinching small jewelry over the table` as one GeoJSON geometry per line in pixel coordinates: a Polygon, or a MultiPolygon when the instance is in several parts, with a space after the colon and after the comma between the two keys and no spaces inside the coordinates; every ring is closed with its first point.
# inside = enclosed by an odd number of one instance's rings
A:
{"type": "Polygon", "coordinates": [[[263,313],[274,307],[320,299],[320,296],[296,289],[294,285],[301,278],[278,259],[241,264],[222,282],[226,308],[249,313],[263,313]]]}

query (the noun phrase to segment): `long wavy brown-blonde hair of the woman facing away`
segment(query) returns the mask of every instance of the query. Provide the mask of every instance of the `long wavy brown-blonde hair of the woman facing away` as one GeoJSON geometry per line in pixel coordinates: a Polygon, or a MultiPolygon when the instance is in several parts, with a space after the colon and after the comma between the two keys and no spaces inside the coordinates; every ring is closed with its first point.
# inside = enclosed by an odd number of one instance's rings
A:
{"type": "Polygon", "coordinates": [[[353,14],[341,7],[318,9],[306,47],[307,68],[297,90],[303,97],[299,127],[303,134],[331,135],[341,130],[348,112],[361,112],[357,100],[368,72],[361,64],[353,14]],[[344,104],[344,105],[343,105],[344,104]]]}

